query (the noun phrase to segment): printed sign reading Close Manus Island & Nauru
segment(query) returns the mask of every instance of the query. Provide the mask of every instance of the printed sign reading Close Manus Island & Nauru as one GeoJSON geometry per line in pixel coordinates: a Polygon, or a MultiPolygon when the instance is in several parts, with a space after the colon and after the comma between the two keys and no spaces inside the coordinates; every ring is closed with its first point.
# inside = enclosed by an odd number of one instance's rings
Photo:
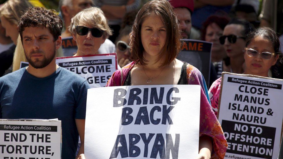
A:
{"type": "Polygon", "coordinates": [[[278,157],[283,80],[222,73],[218,120],[228,142],[226,158],[278,157]]]}

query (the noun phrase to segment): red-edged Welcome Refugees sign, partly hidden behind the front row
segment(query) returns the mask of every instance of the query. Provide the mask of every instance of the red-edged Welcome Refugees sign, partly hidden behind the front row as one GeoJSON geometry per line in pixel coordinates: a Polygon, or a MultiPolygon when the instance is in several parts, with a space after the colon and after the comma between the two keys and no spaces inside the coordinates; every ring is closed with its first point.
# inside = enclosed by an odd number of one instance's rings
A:
{"type": "Polygon", "coordinates": [[[56,64],[86,78],[91,88],[104,87],[117,70],[117,54],[57,57],[56,64]]]}

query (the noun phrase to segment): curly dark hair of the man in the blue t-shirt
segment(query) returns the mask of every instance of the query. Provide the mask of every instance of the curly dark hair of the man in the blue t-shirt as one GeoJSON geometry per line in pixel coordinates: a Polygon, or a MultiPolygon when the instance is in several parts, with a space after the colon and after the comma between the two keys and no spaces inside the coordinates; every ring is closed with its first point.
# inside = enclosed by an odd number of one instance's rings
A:
{"type": "Polygon", "coordinates": [[[46,27],[56,41],[61,35],[63,21],[54,12],[55,10],[43,7],[28,8],[18,21],[21,41],[23,42],[22,34],[26,27],[46,27]]]}

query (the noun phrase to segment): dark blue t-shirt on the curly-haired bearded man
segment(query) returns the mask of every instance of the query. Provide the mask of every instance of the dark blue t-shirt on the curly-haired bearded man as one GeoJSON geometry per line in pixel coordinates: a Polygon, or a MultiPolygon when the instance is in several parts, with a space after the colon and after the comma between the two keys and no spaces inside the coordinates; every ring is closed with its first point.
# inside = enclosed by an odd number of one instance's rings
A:
{"type": "Polygon", "coordinates": [[[58,118],[62,121],[61,158],[75,158],[79,138],[75,119],[86,117],[88,88],[83,77],[62,67],[44,78],[21,68],[0,78],[0,118],[58,118]]]}

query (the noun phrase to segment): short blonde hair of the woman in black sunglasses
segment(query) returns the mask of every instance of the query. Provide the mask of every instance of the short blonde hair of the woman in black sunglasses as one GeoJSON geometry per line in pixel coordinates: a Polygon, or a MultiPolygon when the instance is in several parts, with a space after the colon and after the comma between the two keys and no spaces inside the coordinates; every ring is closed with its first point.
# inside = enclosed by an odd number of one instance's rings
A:
{"type": "Polygon", "coordinates": [[[97,7],[86,8],[72,17],[71,24],[69,26],[69,32],[71,34],[77,33],[75,27],[79,25],[79,22],[89,24],[93,28],[104,30],[104,38],[112,35],[113,31],[108,26],[107,19],[103,11],[97,7]]]}

